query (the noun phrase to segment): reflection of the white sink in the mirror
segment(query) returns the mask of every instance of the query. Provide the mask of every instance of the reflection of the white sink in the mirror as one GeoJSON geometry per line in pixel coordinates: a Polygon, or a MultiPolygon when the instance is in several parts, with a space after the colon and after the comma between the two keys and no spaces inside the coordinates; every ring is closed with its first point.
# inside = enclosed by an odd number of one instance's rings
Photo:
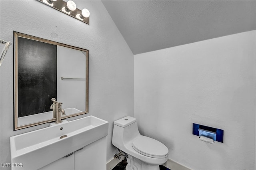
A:
{"type": "MultiPolygon", "coordinates": [[[[80,113],[82,111],[76,109],[76,108],[67,108],[64,109],[66,115],[72,115],[75,113],[80,113]]],[[[38,113],[34,115],[24,116],[18,118],[18,126],[22,125],[28,125],[34,122],[40,122],[40,121],[46,121],[52,119],[52,111],[44,112],[44,113],[38,113]]]]}

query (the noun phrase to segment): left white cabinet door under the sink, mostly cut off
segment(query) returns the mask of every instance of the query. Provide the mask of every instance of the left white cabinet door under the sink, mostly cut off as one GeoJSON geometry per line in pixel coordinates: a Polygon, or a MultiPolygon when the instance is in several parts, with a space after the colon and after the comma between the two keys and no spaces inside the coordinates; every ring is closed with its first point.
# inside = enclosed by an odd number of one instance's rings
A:
{"type": "Polygon", "coordinates": [[[74,170],[74,154],[60,158],[39,170],[74,170]]]}

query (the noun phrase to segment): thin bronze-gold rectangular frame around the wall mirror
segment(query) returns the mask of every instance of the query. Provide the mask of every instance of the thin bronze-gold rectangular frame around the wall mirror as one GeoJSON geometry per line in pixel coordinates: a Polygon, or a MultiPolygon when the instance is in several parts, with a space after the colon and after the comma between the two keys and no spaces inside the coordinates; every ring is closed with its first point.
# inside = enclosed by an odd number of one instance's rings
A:
{"type": "Polygon", "coordinates": [[[64,43],[59,43],[59,42],[54,42],[51,40],[46,40],[43,38],[38,38],[35,36],[30,36],[27,34],[22,34],[19,32],[13,32],[14,35],[14,74],[13,74],[13,78],[14,78],[14,130],[19,130],[22,128],[27,128],[27,127],[32,127],[32,126],[36,126],[36,125],[41,125],[44,123],[49,123],[49,122],[53,122],[56,121],[56,118],[52,118],[52,119],[48,119],[45,121],[39,121],[39,122],[35,122],[35,123],[31,123],[31,124],[27,124],[27,125],[20,125],[18,126],[18,37],[21,38],[27,38],[27,39],[31,39],[31,40],[35,40],[35,41],[39,41],[39,42],[44,42],[44,43],[49,43],[49,44],[53,44],[53,45],[60,45],[60,46],[64,46],[64,47],[68,47],[68,48],[72,48],[72,49],[77,49],[80,51],[86,51],[86,107],[85,107],[85,111],[84,112],[80,112],[80,113],[75,113],[72,115],[66,115],[63,116],[61,119],[66,119],[69,117],[74,117],[74,116],[78,116],[78,115],[83,115],[88,113],[88,92],[89,92],[89,50],[88,49],[82,49],[79,47],[74,47],[71,45],[66,45],[64,43]]]}

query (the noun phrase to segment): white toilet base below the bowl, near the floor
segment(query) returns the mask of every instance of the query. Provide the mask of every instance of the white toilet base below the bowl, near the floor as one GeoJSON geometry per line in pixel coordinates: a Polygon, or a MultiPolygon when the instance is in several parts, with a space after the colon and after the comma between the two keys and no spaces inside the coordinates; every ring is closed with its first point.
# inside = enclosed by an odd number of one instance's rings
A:
{"type": "Polygon", "coordinates": [[[159,170],[159,165],[150,165],[128,154],[126,170],[159,170]]]}

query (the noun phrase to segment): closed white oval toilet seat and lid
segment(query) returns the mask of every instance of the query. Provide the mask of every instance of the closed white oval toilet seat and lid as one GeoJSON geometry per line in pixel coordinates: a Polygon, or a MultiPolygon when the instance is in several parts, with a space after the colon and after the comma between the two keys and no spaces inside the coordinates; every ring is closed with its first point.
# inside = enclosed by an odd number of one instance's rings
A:
{"type": "Polygon", "coordinates": [[[132,147],[140,154],[152,158],[165,158],[168,155],[168,148],[164,144],[147,136],[136,138],[132,147]]]}

